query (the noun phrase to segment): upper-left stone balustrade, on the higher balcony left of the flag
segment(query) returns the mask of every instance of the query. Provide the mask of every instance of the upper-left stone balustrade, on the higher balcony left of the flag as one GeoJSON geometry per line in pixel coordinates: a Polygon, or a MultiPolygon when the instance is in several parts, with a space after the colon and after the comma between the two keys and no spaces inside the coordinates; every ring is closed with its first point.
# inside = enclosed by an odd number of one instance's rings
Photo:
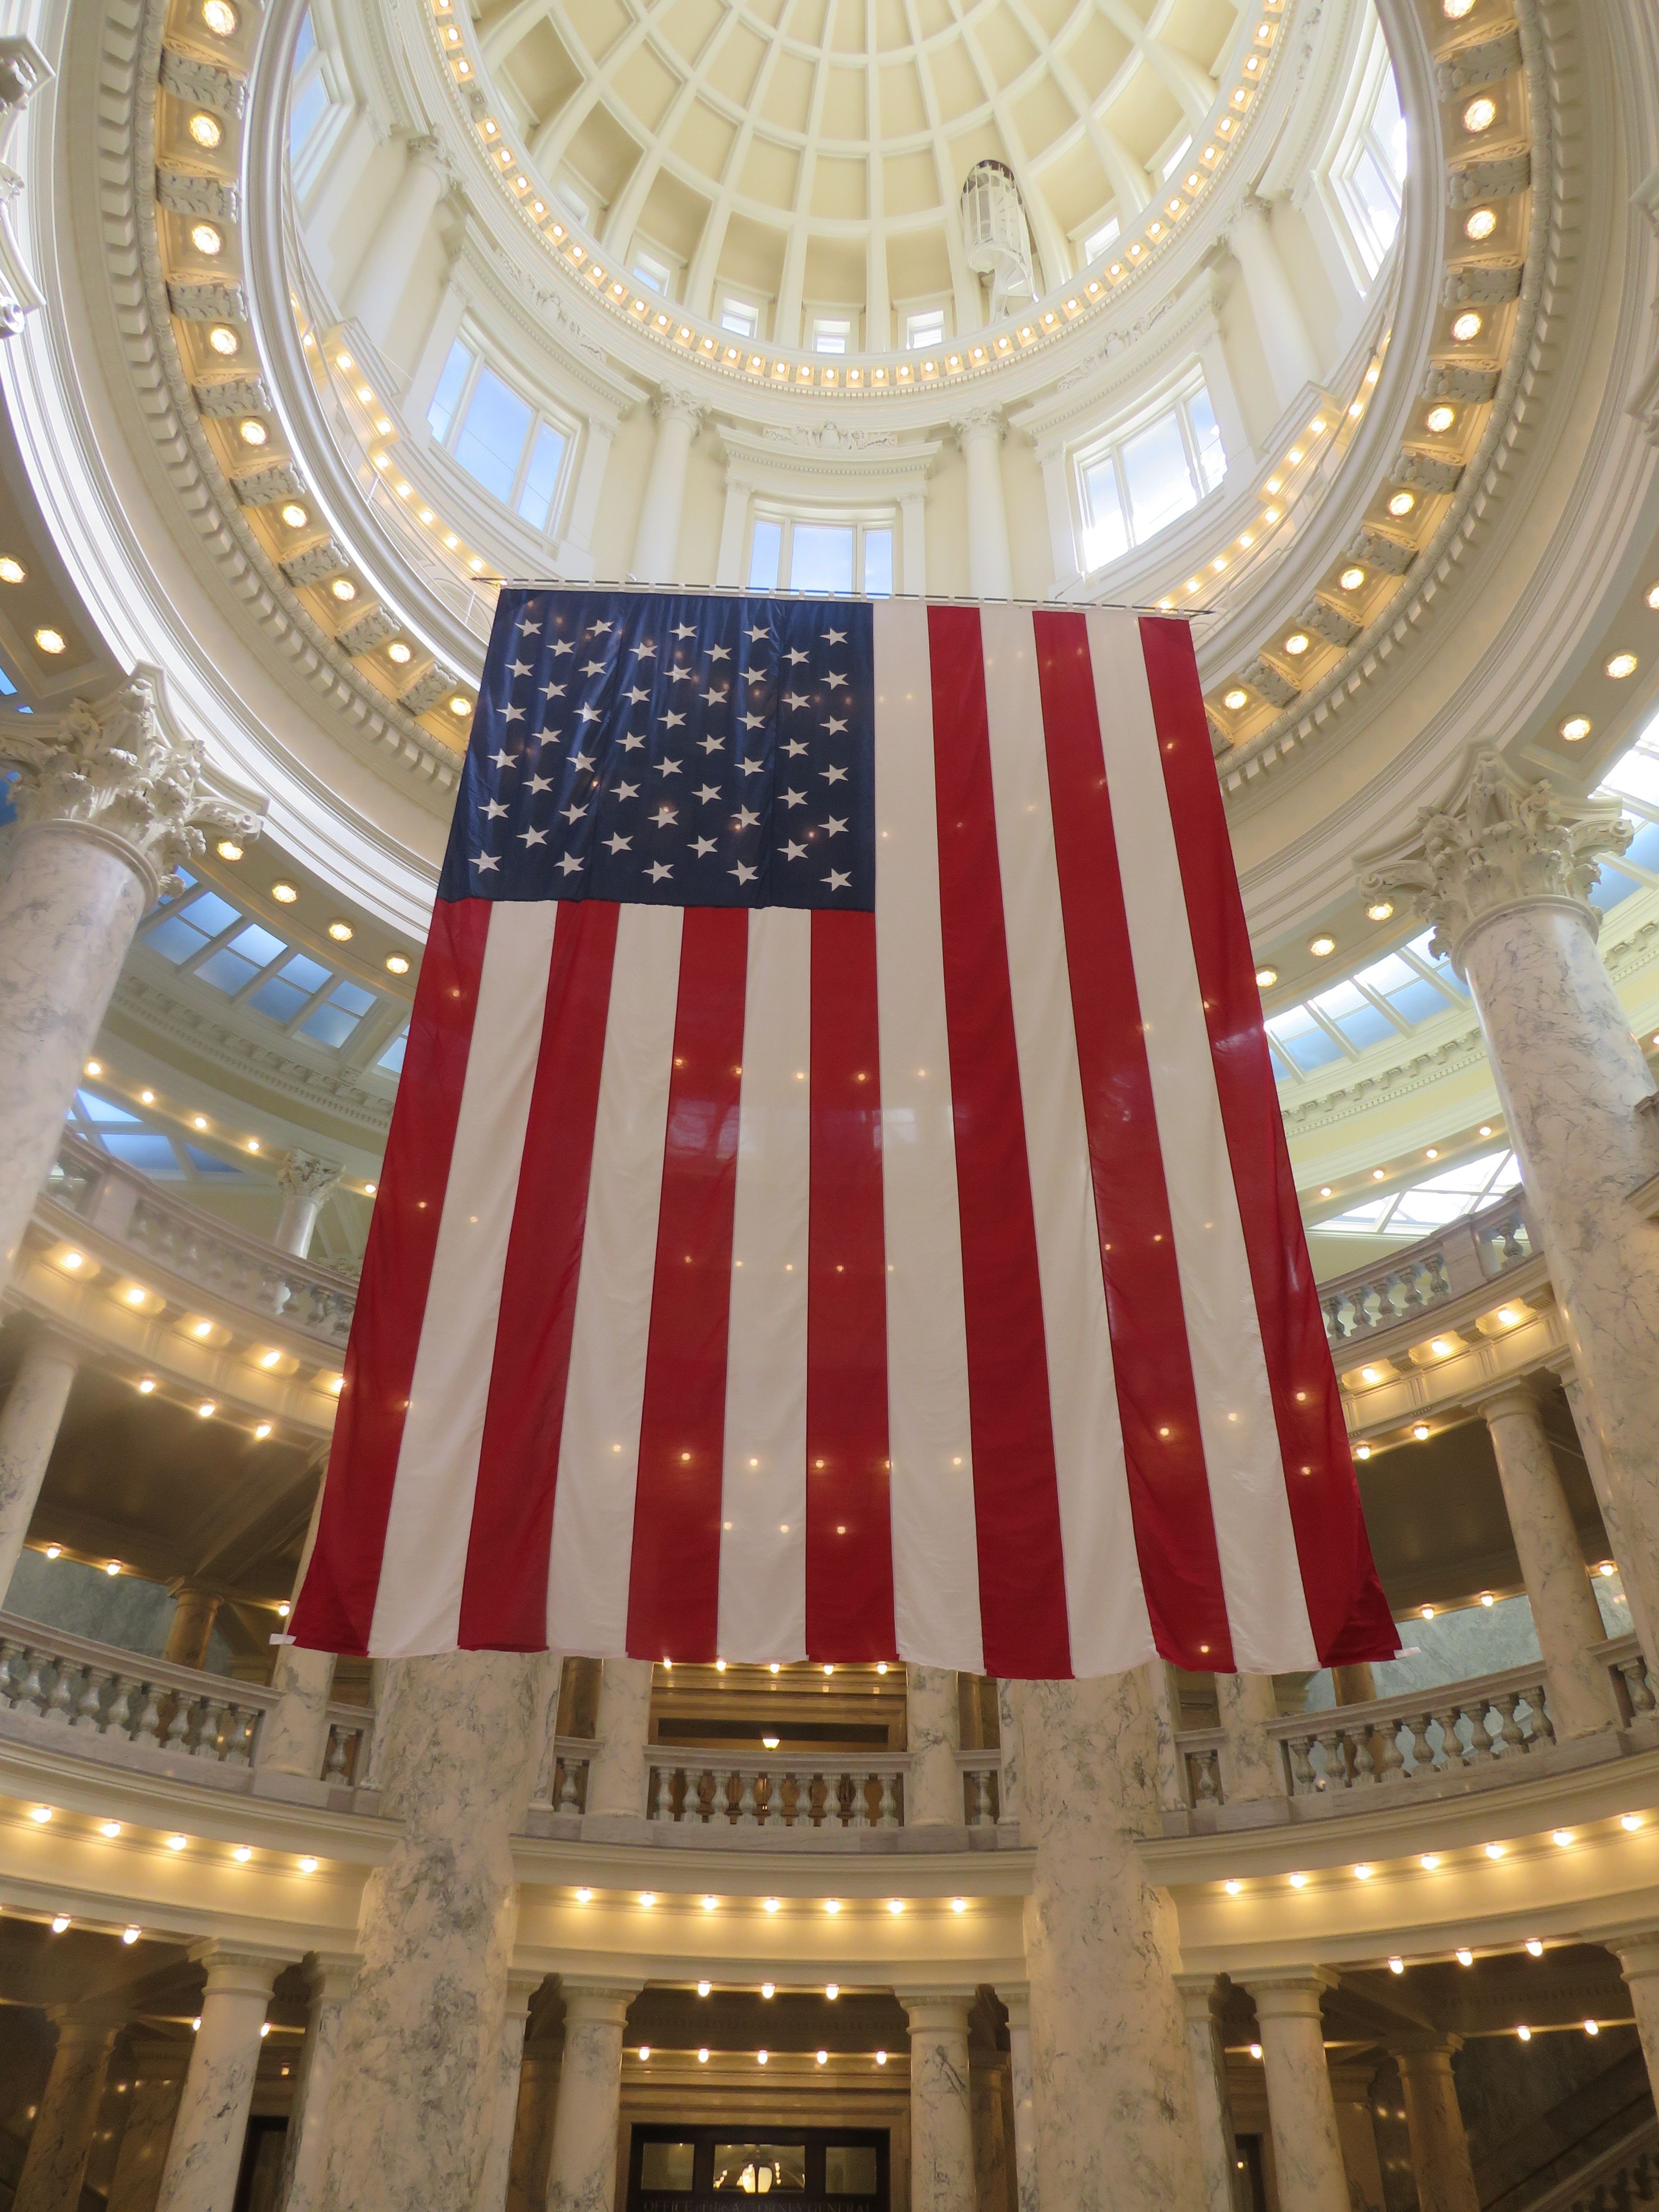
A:
{"type": "Polygon", "coordinates": [[[206,1290],[334,1349],[349,1336],[356,1307],[349,1276],[312,1267],[186,1206],[71,1133],[60,1141],[38,1219],[53,1234],[84,1241],[95,1259],[173,1276],[175,1285],[206,1290]]]}

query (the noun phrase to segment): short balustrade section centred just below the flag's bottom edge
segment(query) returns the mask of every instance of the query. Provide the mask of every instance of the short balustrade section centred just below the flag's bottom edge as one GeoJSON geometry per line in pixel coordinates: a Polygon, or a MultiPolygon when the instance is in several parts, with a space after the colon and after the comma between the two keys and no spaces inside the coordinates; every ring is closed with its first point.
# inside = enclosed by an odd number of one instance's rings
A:
{"type": "Polygon", "coordinates": [[[885,1829],[905,1825],[907,1756],[883,1759],[743,1759],[695,1752],[648,1761],[646,1805],[655,1823],[703,1827],[710,1836],[739,1829],[885,1829]]]}

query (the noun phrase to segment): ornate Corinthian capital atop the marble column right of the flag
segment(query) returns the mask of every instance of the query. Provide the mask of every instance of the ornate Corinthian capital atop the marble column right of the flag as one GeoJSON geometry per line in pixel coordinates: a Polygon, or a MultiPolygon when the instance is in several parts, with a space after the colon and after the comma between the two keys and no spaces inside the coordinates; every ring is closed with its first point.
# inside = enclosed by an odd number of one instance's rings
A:
{"type": "Polygon", "coordinates": [[[1422,807],[1411,836],[1371,856],[1360,889],[1365,898],[1409,891],[1420,920],[1436,925],[1431,951],[1462,973],[1473,929],[1511,907],[1571,907],[1599,929],[1588,898],[1597,863],[1617,858],[1630,836],[1617,799],[1564,799],[1553,783],[1526,783],[1495,752],[1478,752],[1444,805],[1422,807]]]}

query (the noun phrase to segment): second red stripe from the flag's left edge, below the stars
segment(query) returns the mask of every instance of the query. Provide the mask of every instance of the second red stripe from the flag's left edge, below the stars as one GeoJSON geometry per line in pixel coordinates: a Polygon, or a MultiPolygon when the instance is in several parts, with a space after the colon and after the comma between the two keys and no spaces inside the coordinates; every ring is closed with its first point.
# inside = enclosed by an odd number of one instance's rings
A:
{"type": "Polygon", "coordinates": [[[542,1048],[507,1241],[495,1360],[460,1593],[462,1650],[546,1646],[546,1566],[564,1387],[588,1219],[593,1126],[617,914],[566,900],[553,929],[542,1048]]]}

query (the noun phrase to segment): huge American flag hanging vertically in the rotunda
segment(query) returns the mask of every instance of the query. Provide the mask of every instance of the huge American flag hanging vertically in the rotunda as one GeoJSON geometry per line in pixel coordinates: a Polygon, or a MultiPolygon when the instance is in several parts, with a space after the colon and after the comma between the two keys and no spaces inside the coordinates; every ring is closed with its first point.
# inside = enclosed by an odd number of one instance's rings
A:
{"type": "Polygon", "coordinates": [[[502,593],[294,1635],[1394,1652],[1186,624],[502,593]]]}

